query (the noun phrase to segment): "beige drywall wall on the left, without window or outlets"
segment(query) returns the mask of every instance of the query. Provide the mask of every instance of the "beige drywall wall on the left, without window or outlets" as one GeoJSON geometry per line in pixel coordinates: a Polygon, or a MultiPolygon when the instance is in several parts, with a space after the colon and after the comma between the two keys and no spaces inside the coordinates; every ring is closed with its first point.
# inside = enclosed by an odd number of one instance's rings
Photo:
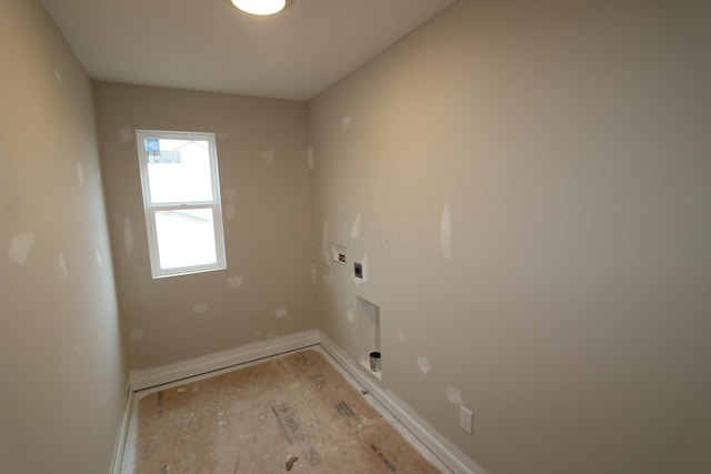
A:
{"type": "Polygon", "coordinates": [[[106,473],[127,396],[91,83],[0,2],[0,472],[106,473]]]}

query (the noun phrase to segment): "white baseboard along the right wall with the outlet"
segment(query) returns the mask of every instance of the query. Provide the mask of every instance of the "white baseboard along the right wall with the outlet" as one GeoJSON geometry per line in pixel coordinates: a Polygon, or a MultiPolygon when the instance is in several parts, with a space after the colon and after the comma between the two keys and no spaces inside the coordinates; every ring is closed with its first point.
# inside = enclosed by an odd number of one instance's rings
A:
{"type": "Polygon", "coordinates": [[[352,359],[326,334],[319,333],[319,343],[341,366],[361,383],[392,415],[404,425],[422,444],[455,474],[487,474],[460,448],[438,433],[401,399],[364,373],[352,359]]]}

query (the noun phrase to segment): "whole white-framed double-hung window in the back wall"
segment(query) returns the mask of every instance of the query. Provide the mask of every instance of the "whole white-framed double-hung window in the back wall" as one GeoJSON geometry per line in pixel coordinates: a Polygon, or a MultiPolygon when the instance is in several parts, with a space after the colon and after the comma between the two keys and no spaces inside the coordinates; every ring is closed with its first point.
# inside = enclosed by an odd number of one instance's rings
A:
{"type": "Polygon", "coordinates": [[[227,266],[213,133],[138,130],[154,279],[227,266]]]}

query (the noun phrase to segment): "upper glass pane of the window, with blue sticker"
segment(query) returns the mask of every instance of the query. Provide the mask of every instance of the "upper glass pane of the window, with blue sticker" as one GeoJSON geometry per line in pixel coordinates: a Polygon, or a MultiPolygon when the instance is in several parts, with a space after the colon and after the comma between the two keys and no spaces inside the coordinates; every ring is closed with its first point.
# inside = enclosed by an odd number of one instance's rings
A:
{"type": "Polygon", "coordinates": [[[207,141],[144,140],[151,203],[212,201],[207,141]]]}

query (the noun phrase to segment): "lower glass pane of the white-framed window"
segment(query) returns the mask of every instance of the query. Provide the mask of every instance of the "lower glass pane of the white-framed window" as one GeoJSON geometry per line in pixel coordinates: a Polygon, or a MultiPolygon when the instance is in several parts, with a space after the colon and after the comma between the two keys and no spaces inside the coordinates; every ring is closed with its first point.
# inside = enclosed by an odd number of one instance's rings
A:
{"type": "Polygon", "coordinates": [[[212,209],[156,212],[162,270],[217,263],[212,209]]]}

